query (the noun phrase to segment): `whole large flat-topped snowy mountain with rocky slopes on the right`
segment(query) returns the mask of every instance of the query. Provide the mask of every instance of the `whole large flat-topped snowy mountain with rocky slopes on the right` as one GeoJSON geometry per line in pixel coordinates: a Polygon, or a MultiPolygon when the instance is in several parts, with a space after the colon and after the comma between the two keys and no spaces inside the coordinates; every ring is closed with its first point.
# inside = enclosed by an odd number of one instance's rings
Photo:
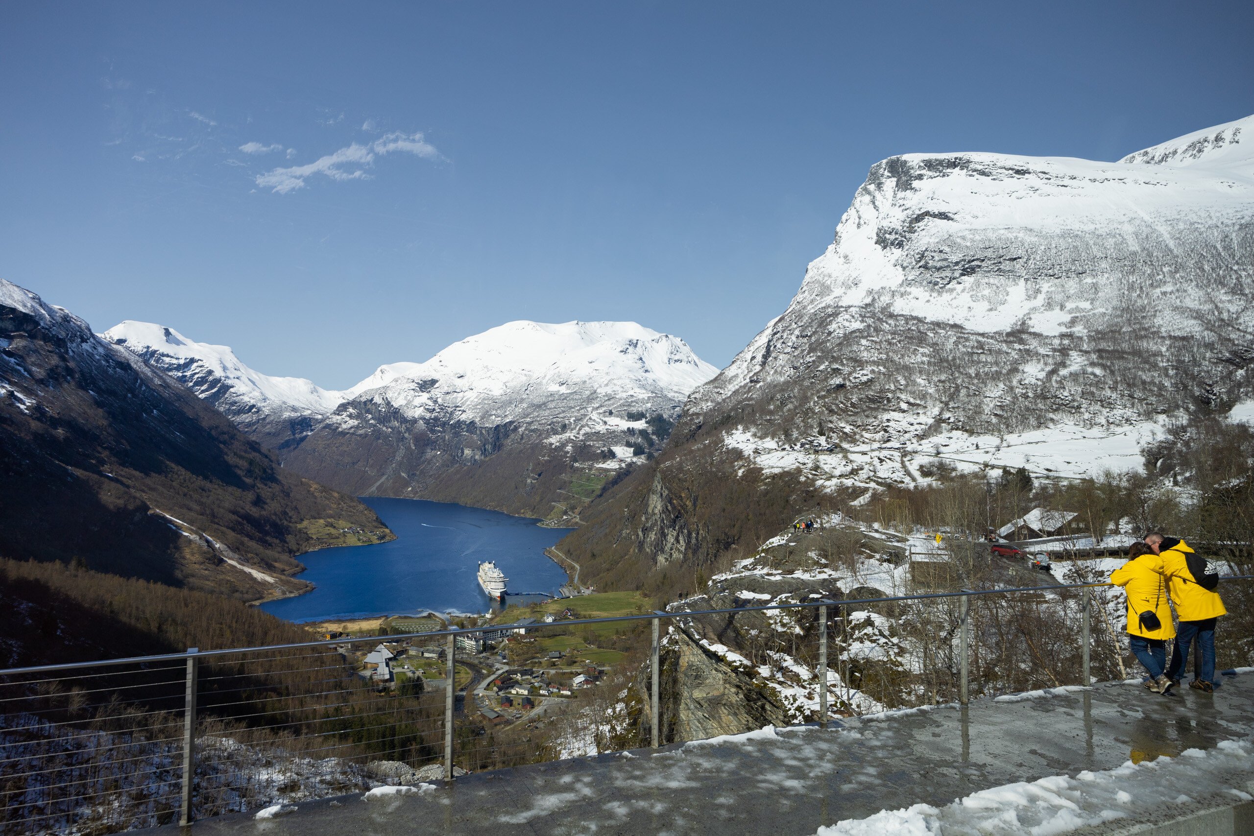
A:
{"type": "Polygon", "coordinates": [[[568,553],[673,562],[648,535],[671,525],[690,564],[712,560],[801,503],[868,499],[938,461],[1139,468],[1171,417],[1254,396],[1251,252],[1254,117],[1119,163],[877,163],[789,308],[607,498],[623,524],[568,553]],[[678,518],[647,500],[663,493],[690,498],[678,518]],[[742,499],[777,510],[736,521],[742,499]]]}

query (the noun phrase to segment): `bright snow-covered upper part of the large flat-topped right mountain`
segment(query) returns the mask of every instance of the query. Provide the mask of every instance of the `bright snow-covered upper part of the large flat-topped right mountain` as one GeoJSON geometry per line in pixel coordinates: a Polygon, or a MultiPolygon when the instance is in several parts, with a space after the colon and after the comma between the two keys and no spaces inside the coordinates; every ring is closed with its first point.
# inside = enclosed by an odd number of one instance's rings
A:
{"type": "MultiPolygon", "coordinates": [[[[1193,276],[1199,259],[1226,261],[1198,238],[1201,229],[1246,228],[1254,216],[1251,152],[1254,117],[1122,163],[892,157],[872,167],[794,305],[865,305],[986,333],[1045,335],[1117,327],[1150,286],[1175,308],[1206,308],[1216,293],[1245,292],[1219,263],[1218,283],[1193,276]]],[[[1164,326],[1193,327],[1188,317],[1164,326]]]]}

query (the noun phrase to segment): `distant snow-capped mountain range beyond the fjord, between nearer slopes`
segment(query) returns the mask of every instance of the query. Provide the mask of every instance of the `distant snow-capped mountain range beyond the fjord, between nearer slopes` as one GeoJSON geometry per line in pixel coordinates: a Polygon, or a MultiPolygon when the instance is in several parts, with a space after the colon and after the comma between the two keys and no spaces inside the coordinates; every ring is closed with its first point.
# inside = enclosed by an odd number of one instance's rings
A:
{"type": "Polygon", "coordinates": [[[593,490],[647,456],[717,374],[682,340],[635,322],[509,322],[425,362],[380,366],[342,392],[262,375],[224,346],[158,325],[123,322],[104,336],[183,380],[297,473],[357,494],[543,516],[563,515],[558,494],[579,462],[596,471],[579,480],[593,490]],[[460,473],[469,465],[489,484],[472,486],[460,473]]]}

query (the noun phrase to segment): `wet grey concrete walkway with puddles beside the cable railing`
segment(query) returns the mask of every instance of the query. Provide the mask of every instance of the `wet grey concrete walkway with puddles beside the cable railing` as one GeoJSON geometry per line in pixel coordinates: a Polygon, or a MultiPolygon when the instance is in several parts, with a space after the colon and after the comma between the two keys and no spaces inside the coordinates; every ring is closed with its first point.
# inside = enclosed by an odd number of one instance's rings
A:
{"type": "Polygon", "coordinates": [[[1254,674],[1214,694],[1139,684],[979,699],[658,752],[574,758],[458,778],[420,795],[301,802],[292,815],[197,822],[203,833],[814,833],[880,810],[1016,781],[1176,756],[1254,733],[1254,674]]]}

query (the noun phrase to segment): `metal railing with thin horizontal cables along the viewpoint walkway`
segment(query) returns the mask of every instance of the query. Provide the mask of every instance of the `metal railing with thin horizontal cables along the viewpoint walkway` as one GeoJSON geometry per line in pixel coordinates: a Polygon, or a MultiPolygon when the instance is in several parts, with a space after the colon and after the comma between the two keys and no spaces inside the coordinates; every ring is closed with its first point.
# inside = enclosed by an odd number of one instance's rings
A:
{"type": "Polygon", "coordinates": [[[973,683],[978,696],[1126,678],[1109,588],[776,600],[11,668],[0,832],[189,823],[463,770],[964,704],[973,683]],[[394,656],[371,671],[359,648],[380,643],[394,656]]]}

